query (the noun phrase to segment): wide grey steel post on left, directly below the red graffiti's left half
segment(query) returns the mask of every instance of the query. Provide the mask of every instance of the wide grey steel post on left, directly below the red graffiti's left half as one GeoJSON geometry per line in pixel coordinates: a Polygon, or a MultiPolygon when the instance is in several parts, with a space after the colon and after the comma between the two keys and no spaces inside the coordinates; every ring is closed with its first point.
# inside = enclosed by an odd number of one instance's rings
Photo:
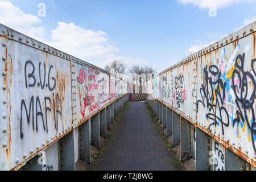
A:
{"type": "Polygon", "coordinates": [[[90,119],[79,126],[79,158],[90,164],[90,119]]]}

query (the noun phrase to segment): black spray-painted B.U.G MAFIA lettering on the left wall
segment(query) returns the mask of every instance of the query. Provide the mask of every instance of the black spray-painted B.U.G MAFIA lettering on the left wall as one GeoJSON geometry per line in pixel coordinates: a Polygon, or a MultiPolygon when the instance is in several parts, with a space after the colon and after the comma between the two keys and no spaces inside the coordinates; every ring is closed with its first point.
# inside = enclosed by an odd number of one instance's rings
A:
{"type": "MultiPolygon", "coordinates": [[[[53,68],[53,65],[49,66],[48,69],[48,78],[47,78],[47,83],[46,83],[46,76],[47,76],[47,71],[46,71],[46,64],[44,63],[43,65],[43,79],[42,79],[42,73],[41,73],[41,64],[39,63],[38,65],[38,72],[39,72],[39,78],[36,79],[35,73],[35,65],[32,63],[32,61],[28,60],[26,64],[24,65],[24,78],[25,78],[25,86],[26,89],[32,89],[35,88],[36,86],[36,81],[38,81],[38,88],[44,90],[48,88],[49,92],[53,92],[55,90],[56,86],[56,79],[55,77],[51,77],[51,70],[53,68]],[[30,68],[30,69],[29,69],[30,68]],[[28,70],[30,70],[30,73],[28,73],[28,70]],[[50,79],[51,77],[51,79],[50,79]],[[43,80],[43,81],[42,81],[43,80]]],[[[43,130],[48,133],[48,113],[52,113],[54,115],[54,125],[56,132],[58,131],[58,123],[59,123],[59,117],[62,117],[61,114],[61,102],[60,102],[60,96],[59,93],[52,93],[52,97],[43,97],[43,101],[40,101],[39,96],[31,96],[30,100],[28,100],[29,107],[26,105],[25,99],[21,101],[20,104],[20,138],[23,138],[23,113],[25,111],[26,115],[25,117],[27,118],[27,124],[30,125],[32,123],[32,130],[33,131],[38,131],[39,130],[39,125],[42,126],[43,130]],[[53,104],[52,104],[53,103],[53,104]],[[52,105],[53,108],[49,107],[49,105],[52,105]],[[43,112],[44,108],[44,112],[43,112]],[[39,121],[42,121],[42,124],[40,124],[39,121]]]]}

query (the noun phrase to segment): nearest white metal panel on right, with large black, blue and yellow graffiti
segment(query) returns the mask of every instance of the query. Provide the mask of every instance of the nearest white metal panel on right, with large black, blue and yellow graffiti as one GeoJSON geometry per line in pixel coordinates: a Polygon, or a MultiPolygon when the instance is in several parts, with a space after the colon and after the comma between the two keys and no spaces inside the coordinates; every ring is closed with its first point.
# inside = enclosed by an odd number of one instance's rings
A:
{"type": "Polygon", "coordinates": [[[255,33],[199,57],[197,122],[255,156],[255,33]],[[203,119],[202,119],[203,118],[203,119]]]}

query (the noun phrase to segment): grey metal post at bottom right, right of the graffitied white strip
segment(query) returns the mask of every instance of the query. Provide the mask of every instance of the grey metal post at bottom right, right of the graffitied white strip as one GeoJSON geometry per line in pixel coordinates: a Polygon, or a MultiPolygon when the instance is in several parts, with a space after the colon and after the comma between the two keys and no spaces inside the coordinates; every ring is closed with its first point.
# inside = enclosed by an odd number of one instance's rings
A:
{"type": "Polygon", "coordinates": [[[245,171],[246,162],[234,152],[225,148],[225,170],[226,171],[245,171]]]}

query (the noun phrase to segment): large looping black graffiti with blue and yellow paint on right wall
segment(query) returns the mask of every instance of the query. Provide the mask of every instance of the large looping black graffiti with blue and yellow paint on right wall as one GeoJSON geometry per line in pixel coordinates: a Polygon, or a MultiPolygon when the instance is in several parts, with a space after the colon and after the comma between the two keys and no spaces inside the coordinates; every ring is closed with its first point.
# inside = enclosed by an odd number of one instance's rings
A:
{"type": "MultiPolygon", "coordinates": [[[[207,108],[207,119],[212,121],[208,129],[212,132],[213,126],[221,126],[221,134],[225,135],[224,127],[235,127],[236,137],[241,137],[247,126],[247,139],[252,143],[254,151],[256,140],[255,123],[255,62],[251,60],[250,70],[245,70],[245,53],[238,54],[239,44],[234,55],[225,63],[225,48],[222,50],[219,64],[203,69],[203,84],[200,88],[199,104],[207,108]],[[232,64],[230,64],[232,63],[232,64]]],[[[248,68],[247,68],[248,69],[248,68]]]]}

